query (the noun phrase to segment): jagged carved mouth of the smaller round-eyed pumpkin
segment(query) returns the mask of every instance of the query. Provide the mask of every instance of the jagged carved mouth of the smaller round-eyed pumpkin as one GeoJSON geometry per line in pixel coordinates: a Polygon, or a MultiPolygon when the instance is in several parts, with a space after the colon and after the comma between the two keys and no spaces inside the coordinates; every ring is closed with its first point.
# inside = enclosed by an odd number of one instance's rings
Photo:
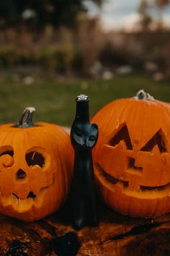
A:
{"type": "Polygon", "coordinates": [[[35,195],[34,192],[30,191],[27,195],[27,198],[20,199],[16,194],[12,193],[12,195],[4,196],[1,194],[1,203],[5,207],[8,205],[12,205],[12,208],[16,210],[18,213],[22,213],[24,211],[29,210],[32,205],[35,205],[36,208],[40,208],[43,202],[43,198],[45,196],[45,193],[50,189],[50,187],[53,187],[54,184],[54,176],[53,176],[53,182],[52,184],[42,187],[40,189],[40,193],[38,195],[35,195]]]}

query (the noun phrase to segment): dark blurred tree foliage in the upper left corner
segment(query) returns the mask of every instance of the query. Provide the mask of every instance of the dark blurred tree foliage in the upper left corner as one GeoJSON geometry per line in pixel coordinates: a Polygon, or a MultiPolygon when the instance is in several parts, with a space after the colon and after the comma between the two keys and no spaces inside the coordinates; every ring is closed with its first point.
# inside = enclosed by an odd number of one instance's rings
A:
{"type": "MultiPolygon", "coordinates": [[[[91,0],[98,6],[103,0],[91,0]]],[[[0,1],[0,24],[44,27],[46,24],[73,26],[79,12],[86,12],[84,0],[5,0],[0,1]]]]}

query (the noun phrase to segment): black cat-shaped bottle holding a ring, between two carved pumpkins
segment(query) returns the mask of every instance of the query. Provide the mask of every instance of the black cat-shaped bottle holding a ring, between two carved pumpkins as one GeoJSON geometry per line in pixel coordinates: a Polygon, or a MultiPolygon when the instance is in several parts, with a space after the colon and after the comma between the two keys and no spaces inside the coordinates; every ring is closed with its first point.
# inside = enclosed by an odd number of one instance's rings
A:
{"type": "Polygon", "coordinates": [[[76,98],[76,116],[71,127],[71,143],[75,152],[73,166],[73,227],[97,226],[94,169],[91,150],[97,142],[97,124],[89,121],[89,98],[76,98]]]}

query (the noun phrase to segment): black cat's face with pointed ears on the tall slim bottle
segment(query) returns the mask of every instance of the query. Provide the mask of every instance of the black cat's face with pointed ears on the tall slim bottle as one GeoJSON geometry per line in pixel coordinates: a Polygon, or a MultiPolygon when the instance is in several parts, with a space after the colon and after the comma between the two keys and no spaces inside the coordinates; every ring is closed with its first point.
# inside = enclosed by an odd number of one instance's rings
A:
{"type": "Polygon", "coordinates": [[[93,148],[97,142],[97,124],[81,124],[74,122],[71,128],[71,142],[75,148],[93,148]]]}

